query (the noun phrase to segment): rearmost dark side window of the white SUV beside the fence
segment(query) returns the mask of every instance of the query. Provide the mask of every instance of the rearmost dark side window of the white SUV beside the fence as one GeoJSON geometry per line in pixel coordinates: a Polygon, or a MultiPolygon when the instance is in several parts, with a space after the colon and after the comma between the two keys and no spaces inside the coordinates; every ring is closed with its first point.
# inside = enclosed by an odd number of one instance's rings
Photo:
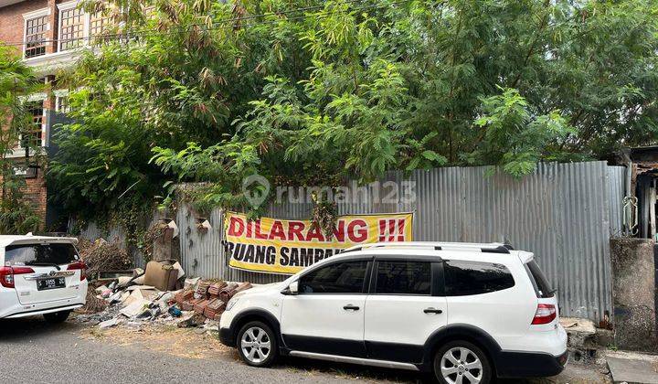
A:
{"type": "Polygon", "coordinates": [[[444,272],[447,296],[503,291],[515,285],[507,267],[492,262],[445,261],[444,272]]]}

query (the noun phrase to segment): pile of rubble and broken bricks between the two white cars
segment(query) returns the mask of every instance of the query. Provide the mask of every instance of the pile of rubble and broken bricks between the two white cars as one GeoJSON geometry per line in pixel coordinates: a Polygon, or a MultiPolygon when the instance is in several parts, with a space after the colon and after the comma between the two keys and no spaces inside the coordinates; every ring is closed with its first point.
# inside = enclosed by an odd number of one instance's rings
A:
{"type": "Polygon", "coordinates": [[[146,272],[136,269],[132,273],[96,288],[90,286],[107,306],[99,313],[80,314],[78,320],[101,328],[160,323],[218,330],[228,300],[251,288],[251,283],[186,278],[177,262],[151,261],[146,272]]]}

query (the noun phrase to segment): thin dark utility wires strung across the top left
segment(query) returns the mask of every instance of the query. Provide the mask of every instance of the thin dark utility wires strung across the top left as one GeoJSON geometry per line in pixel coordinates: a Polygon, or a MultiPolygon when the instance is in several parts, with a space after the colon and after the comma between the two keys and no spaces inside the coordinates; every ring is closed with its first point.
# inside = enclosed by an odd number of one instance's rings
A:
{"type": "MultiPolygon", "coordinates": [[[[347,12],[355,12],[355,11],[362,11],[362,10],[368,10],[368,9],[378,9],[378,8],[386,8],[391,5],[398,5],[402,3],[409,3],[412,0],[399,0],[395,2],[390,2],[387,4],[383,5],[367,5],[367,6],[362,6],[362,7],[356,7],[352,9],[348,9],[347,12]]],[[[365,3],[366,0],[345,0],[344,2],[340,4],[363,4],[365,3]]],[[[88,36],[88,37],[79,37],[79,38],[73,38],[73,39],[38,39],[34,41],[11,41],[11,42],[2,42],[2,44],[6,46],[24,46],[27,45],[28,43],[39,43],[39,44],[44,44],[44,43],[55,43],[55,42],[70,42],[70,41],[85,41],[85,40],[101,40],[101,41],[107,41],[109,39],[122,39],[122,38],[131,38],[131,37],[149,37],[149,36],[158,36],[158,35],[163,35],[163,34],[173,34],[176,33],[175,29],[183,30],[183,29],[190,29],[193,27],[205,27],[204,30],[219,30],[219,29],[227,29],[227,28],[235,28],[235,27],[254,27],[254,26],[260,26],[260,25],[271,25],[271,24],[277,24],[280,23],[281,21],[295,21],[295,20],[302,20],[305,18],[310,18],[310,17],[315,17],[315,16],[324,16],[328,14],[334,14],[336,12],[339,12],[336,9],[332,10],[327,10],[324,12],[321,12],[319,14],[310,14],[310,15],[303,15],[303,16],[295,16],[295,17],[288,17],[284,20],[272,20],[269,22],[257,22],[257,23],[248,23],[248,24],[241,24],[241,25],[236,25],[237,22],[243,21],[243,20],[251,20],[255,18],[261,18],[261,17],[268,17],[268,16],[286,16],[290,14],[296,14],[300,12],[307,12],[307,11],[313,11],[317,9],[322,9],[324,8],[325,5],[313,5],[313,6],[306,6],[302,8],[294,8],[290,9],[287,11],[278,11],[278,12],[269,12],[269,13],[264,13],[260,15],[252,15],[252,16],[240,16],[240,17],[233,17],[233,18],[225,18],[225,19],[220,19],[217,21],[214,21],[211,26],[213,27],[207,27],[207,24],[188,24],[186,26],[179,26],[179,27],[171,27],[167,29],[166,31],[160,31],[158,29],[141,29],[136,32],[131,32],[131,31],[126,31],[122,33],[116,33],[116,34],[101,34],[98,36],[88,36]],[[227,26],[219,26],[219,24],[226,24],[226,23],[232,23],[232,25],[227,26]]]]}

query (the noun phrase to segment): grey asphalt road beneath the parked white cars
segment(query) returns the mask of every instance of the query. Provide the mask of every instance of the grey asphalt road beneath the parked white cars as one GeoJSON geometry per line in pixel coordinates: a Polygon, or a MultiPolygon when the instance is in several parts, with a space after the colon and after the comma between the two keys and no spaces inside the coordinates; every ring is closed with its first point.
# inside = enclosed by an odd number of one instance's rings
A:
{"type": "MultiPolygon", "coordinates": [[[[426,382],[412,372],[306,359],[286,359],[271,369],[250,368],[239,362],[235,351],[218,343],[218,347],[202,349],[196,355],[181,355],[177,351],[187,351],[189,346],[208,348],[206,344],[216,342],[214,338],[199,342],[196,337],[209,336],[196,336],[193,331],[155,331],[147,335],[149,342],[145,344],[120,339],[122,332],[113,328],[103,335],[98,328],[74,321],[48,325],[39,317],[0,320],[0,372],[8,382],[26,383],[426,382]],[[181,347],[179,342],[183,339],[189,340],[181,347]]],[[[147,338],[134,332],[133,335],[133,340],[147,338]]],[[[583,379],[582,375],[575,372],[574,376],[583,379]]],[[[570,378],[551,381],[568,382],[570,378]]]]}

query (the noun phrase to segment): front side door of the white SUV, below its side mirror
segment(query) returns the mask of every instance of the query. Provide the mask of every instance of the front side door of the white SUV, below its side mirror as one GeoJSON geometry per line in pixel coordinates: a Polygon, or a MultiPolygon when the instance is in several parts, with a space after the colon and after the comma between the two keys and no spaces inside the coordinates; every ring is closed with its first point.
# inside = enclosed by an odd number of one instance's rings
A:
{"type": "Polygon", "coordinates": [[[302,274],[299,293],[281,309],[281,334],[292,350],[365,357],[364,306],[369,260],[336,261],[302,274]]]}

